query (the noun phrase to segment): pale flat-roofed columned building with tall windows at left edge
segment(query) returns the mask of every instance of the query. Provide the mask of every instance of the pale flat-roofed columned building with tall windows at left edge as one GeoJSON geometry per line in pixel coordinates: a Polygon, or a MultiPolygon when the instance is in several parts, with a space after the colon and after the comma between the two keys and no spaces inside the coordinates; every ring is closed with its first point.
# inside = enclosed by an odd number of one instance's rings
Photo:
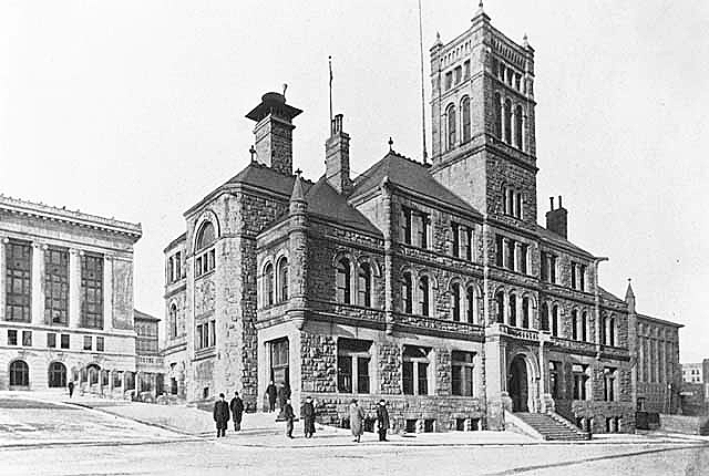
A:
{"type": "Polygon", "coordinates": [[[141,235],[140,225],[0,196],[1,390],[70,380],[88,391],[134,389],[141,235]]]}

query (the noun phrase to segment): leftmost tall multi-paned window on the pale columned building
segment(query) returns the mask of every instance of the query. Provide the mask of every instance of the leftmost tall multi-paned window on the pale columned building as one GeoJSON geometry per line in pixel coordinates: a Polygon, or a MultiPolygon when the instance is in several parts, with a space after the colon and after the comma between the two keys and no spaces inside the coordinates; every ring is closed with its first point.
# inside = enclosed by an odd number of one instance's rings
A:
{"type": "Polygon", "coordinates": [[[6,320],[30,322],[32,307],[32,247],[29,242],[9,241],[6,249],[6,320]]]}

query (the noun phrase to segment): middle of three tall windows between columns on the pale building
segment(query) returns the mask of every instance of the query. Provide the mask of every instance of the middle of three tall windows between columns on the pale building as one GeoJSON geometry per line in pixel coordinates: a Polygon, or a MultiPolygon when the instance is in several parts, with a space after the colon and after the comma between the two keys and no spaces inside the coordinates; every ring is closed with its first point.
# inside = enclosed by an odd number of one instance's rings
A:
{"type": "Polygon", "coordinates": [[[69,251],[62,248],[44,252],[44,322],[69,324],[69,251]]]}

